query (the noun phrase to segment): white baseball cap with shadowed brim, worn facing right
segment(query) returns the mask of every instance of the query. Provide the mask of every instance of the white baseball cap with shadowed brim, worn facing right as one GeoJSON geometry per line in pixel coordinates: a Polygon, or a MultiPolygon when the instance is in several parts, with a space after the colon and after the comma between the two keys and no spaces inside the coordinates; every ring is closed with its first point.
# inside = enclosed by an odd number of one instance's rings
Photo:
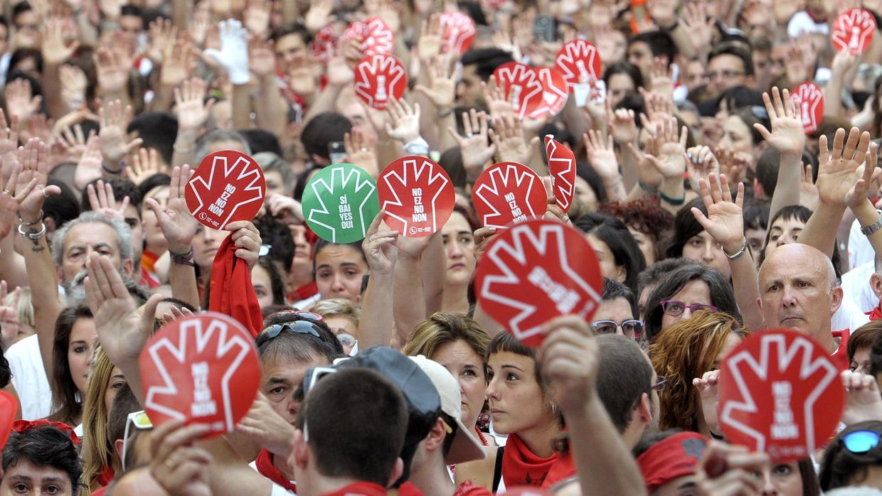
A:
{"type": "Polygon", "coordinates": [[[487,454],[481,441],[475,438],[475,434],[462,423],[462,397],[460,396],[460,383],[453,378],[450,371],[437,361],[427,359],[422,355],[408,357],[420,366],[422,372],[429,376],[429,380],[435,385],[438,396],[441,396],[441,411],[456,420],[456,434],[447,453],[447,463],[465,463],[472,460],[483,460],[487,454]]]}

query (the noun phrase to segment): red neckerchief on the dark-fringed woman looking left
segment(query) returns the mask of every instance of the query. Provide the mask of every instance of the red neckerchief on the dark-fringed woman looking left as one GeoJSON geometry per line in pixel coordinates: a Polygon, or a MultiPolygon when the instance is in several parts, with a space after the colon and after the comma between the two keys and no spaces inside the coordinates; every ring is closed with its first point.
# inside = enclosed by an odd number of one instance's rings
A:
{"type": "Polygon", "coordinates": [[[505,487],[531,485],[548,488],[564,478],[576,475],[572,456],[557,453],[540,458],[527,448],[518,434],[509,434],[502,455],[502,477],[505,487]]]}

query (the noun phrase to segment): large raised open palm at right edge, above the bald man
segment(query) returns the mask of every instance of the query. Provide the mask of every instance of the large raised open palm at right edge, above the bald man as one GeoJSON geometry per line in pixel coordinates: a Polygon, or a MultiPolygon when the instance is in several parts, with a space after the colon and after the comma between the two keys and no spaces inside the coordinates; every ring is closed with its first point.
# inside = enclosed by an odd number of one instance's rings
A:
{"type": "MultiPolygon", "coordinates": [[[[822,204],[845,207],[846,195],[857,182],[858,167],[869,159],[867,150],[870,148],[870,133],[851,128],[846,140],[845,130],[840,128],[833,137],[833,150],[827,148],[826,136],[822,135],[818,144],[818,180],[815,181],[818,186],[818,200],[822,204]]],[[[875,156],[873,159],[868,162],[871,167],[876,164],[875,156]]],[[[851,197],[849,199],[853,200],[851,197]]]]}

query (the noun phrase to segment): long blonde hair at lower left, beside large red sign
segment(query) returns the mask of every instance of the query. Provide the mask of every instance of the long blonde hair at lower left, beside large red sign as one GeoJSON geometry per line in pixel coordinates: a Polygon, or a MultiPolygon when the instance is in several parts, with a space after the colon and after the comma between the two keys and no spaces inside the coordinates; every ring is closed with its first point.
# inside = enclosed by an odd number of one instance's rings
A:
{"type": "Polygon", "coordinates": [[[113,362],[101,346],[95,348],[89,383],[86,386],[86,402],[83,407],[83,483],[93,487],[107,467],[119,465],[113,441],[108,438],[110,412],[104,396],[113,375],[113,362]]]}

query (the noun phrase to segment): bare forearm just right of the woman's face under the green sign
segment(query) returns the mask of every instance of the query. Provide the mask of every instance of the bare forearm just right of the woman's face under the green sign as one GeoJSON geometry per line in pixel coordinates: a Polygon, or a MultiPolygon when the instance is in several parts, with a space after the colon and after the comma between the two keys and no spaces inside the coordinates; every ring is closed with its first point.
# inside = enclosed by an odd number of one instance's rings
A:
{"type": "Polygon", "coordinates": [[[371,274],[358,319],[359,348],[388,346],[392,338],[392,274],[371,274]]]}

